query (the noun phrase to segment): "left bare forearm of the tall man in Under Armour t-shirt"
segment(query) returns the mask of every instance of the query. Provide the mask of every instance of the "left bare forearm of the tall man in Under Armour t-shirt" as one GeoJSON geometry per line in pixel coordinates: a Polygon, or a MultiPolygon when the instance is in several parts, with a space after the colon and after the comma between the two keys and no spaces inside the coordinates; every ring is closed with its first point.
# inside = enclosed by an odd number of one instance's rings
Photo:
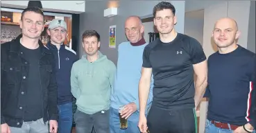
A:
{"type": "Polygon", "coordinates": [[[150,89],[150,81],[139,81],[139,112],[146,113],[146,102],[148,101],[148,93],[150,89]]]}

